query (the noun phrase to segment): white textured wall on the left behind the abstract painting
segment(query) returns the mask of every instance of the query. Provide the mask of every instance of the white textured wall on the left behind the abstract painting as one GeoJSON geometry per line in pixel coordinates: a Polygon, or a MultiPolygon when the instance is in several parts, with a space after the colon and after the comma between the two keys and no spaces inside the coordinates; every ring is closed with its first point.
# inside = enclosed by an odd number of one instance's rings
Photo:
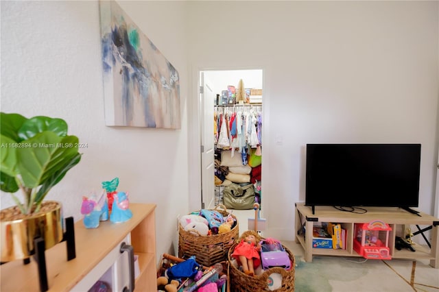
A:
{"type": "MultiPolygon", "coordinates": [[[[159,260],[178,244],[177,215],[189,212],[185,5],[120,5],[180,73],[181,130],[104,125],[97,1],[1,1],[1,111],[60,117],[88,144],[47,197],[63,203],[64,217],[81,219],[82,195],[116,176],[131,202],[157,204],[159,260]]],[[[11,204],[2,193],[1,208],[11,204]]]]}

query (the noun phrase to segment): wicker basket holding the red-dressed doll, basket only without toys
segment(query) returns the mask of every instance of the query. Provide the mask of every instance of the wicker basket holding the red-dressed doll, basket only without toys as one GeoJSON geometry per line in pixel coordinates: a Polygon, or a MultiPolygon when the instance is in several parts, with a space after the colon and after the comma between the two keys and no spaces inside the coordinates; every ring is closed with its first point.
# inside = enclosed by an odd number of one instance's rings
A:
{"type": "MultiPolygon", "coordinates": [[[[239,241],[244,239],[248,234],[253,234],[257,241],[261,241],[261,236],[253,230],[248,230],[241,234],[239,241]]],[[[238,241],[238,242],[239,242],[238,241]]],[[[235,244],[237,245],[237,243],[235,244]]],[[[289,259],[292,261],[292,268],[290,270],[285,270],[282,267],[272,267],[266,271],[264,271],[261,275],[258,276],[248,276],[242,271],[239,271],[235,265],[231,264],[231,255],[233,254],[233,250],[235,245],[230,248],[228,252],[228,260],[229,264],[229,273],[228,276],[230,278],[230,289],[234,292],[257,292],[257,291],[270,291],[269,284],[271,282],[270,276],[273,273],[278,273],[282,277],[282,284],[279,289],[274,291],[283,291],[283,292],[291,292],[294,291],[294,267],[295,267],[295,259],[292,252],[290,252],[287,247],[283,245],[285,251],[289,255],[289,259]]]]}

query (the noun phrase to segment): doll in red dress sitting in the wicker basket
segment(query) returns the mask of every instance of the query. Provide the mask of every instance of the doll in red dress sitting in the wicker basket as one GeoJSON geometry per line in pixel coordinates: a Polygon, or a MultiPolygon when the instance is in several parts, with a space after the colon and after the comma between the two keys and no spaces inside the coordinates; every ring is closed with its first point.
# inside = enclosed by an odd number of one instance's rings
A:
{"type": "Polygon", "coordinates": [[[241,264],[246,275],[254,276],[254,269],[261,265],[259,250],[261,247],[257,245],[256,236],[253,234],[248,234],[233,250],[233,258],[241,264]]]}

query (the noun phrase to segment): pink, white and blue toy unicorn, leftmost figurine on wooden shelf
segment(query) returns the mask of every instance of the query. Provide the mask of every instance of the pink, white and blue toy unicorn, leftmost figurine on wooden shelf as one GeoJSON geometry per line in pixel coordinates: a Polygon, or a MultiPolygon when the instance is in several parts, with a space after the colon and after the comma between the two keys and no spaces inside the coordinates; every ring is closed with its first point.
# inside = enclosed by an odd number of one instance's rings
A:
{"type": "Polygon", "coordinates": [[[86,228],[97,228],[99,221],[108,220],[108,203],[105,192],[91,197],[82,197],[81,214],[86,228]]]}

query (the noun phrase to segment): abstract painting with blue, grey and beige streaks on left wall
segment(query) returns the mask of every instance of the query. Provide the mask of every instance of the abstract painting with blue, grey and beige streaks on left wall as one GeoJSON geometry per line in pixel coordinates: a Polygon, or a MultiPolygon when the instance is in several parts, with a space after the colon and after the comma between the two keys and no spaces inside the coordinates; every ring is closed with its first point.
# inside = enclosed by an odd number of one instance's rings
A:
{"type": "Polygon", "coordinates": [[[115,1],[100,1],[106,125],[180,129],[178,71],[115,1]]]}

